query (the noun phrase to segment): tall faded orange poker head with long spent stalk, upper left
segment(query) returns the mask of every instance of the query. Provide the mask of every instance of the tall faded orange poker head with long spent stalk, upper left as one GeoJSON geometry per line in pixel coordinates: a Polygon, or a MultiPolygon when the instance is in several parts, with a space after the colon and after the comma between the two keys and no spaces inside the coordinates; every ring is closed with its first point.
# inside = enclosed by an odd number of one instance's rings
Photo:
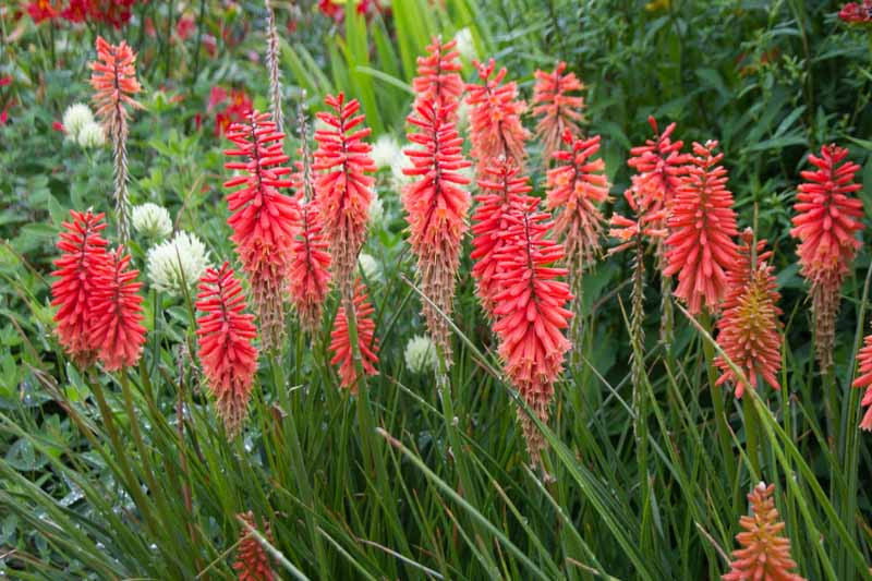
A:
{"type": "Polygon", "coordinates": [[[136,80],[136,56],[124,40],[119,45],[110,45],[98,36],[97,60],[90,63],[90,69],[97,117],[112,140],[118,233],[121,243],[126,244],[131,213],[128,199],[128,107],[142,109],[142,105],[134,99],[134,95],[142,90],[136,80]]]}

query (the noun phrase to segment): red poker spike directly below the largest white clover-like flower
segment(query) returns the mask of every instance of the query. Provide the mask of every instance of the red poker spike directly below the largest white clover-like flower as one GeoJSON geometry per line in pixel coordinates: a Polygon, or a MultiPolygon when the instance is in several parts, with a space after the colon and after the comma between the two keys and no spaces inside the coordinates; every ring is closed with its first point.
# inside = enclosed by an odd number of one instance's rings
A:
{"type": "Polygon", "coordinates": [[[197,317],[197,356],[218,414],[232,437],[249,411],[257,372],[257,329],[254,315],[244,312],[245,295],[228,263],[218,270],[208,268],[203,275],[196,307],[203,312],[197,317]]]}

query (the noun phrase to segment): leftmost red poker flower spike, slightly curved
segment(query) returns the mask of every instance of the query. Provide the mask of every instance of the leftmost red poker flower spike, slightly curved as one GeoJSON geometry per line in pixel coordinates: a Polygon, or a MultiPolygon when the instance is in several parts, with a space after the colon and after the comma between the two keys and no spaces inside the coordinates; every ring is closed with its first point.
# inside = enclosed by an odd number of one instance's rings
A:
{"type": "Polygon", "coordinates": [[[87,367],[97,356],[90,336],[92,303],[97,274],[108,262],[107,242],[100,235],[106,228],[104,214],[70,210],[72,220],[63,222],[51,276],[51,305],[58,306],[56,332],[63,350],[80,367],[87,367]]]}

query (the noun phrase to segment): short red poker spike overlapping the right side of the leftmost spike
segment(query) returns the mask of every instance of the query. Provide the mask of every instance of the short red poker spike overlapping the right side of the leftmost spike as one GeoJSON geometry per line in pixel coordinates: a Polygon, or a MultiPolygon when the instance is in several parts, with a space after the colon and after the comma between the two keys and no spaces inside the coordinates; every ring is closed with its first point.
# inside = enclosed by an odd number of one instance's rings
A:
{"type": "Polygon", "coordinates": [[[142,282],[130,268],[130,255],[119,247],[97,271],[90,306],[90,338],[106,371],[130,367],[140,361],[145,343],[142,282]]]}

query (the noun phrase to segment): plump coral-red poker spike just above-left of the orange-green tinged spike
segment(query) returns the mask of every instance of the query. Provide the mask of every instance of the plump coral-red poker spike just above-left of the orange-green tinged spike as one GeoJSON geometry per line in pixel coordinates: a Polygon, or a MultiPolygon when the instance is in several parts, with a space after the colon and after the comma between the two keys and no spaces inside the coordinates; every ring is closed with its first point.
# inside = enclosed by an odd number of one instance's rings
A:
{"type": "Polygon", "coordinates": [[[715,313],[727,292],[727,270],[736,267],[738,251],[732,237],[736,213],[726,189],[727,170],[717,164],[716,141],[693,144],[694,157],[669,207],[667,266],[664,276],[678,275],[675,295],[691,315],[706,308],[715,313]]]}

